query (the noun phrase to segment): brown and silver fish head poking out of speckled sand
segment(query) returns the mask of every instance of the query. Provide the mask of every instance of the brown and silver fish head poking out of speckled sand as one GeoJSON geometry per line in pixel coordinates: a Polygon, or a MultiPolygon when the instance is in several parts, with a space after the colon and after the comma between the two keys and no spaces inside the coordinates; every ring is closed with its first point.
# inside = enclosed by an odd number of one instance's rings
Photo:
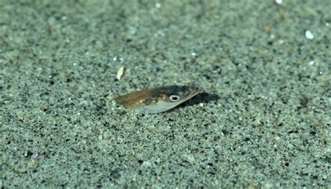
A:
{"type": "Polygon", "coordinates": [[[161,86],[128,93],[115,98],[115,101],[128,109],[156,114],[172,109],[198,93],[203,93],[203,89],[196,86],[161,86]]]}

